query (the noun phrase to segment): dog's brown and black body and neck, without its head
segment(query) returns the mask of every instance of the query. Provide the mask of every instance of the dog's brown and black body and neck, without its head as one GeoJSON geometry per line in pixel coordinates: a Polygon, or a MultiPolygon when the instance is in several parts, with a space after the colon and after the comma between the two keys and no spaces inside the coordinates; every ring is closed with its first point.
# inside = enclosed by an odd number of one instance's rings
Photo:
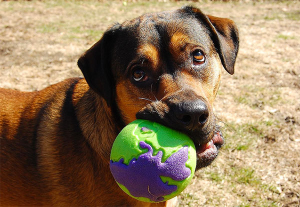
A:
{"type": "Polygon", "coordinates": [[[2,206],[150,205],[113,180],[109,150],[102,149],[117,135],[114,120],[84,79],[0,94],[2,206]],[[100,140],[98,134],[106,135],[100,140]]]}

